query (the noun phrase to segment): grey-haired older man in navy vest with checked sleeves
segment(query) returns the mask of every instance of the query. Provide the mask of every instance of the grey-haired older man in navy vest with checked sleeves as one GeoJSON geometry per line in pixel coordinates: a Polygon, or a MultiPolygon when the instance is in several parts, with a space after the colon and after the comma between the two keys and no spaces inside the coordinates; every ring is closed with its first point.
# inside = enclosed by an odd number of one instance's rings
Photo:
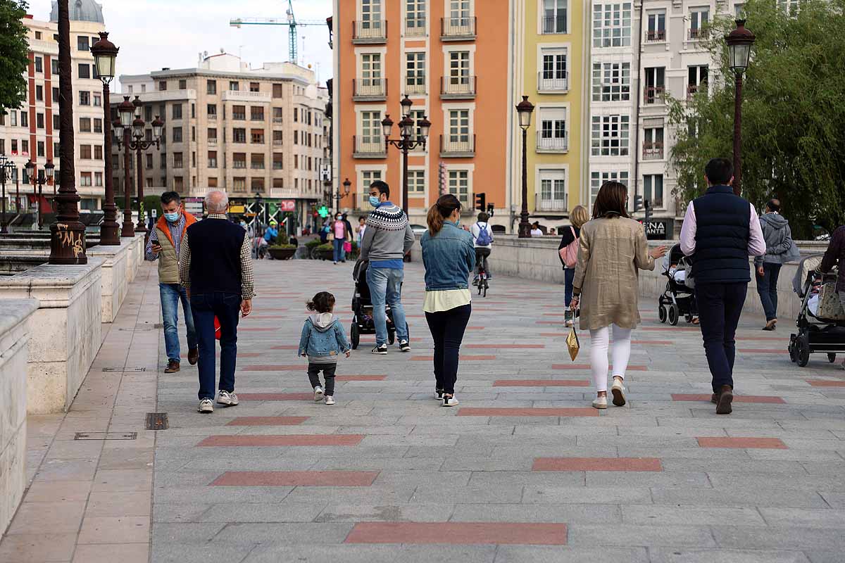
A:
{"type": "Polygon", "coordinates": [[[199,412],[214,411],[215,322],[220,321],[220,392],[217,403],[237,405],[235,361],[238,313],[253,310],[253,258],[247,231],[226,212],[229,198],[214,190],[205,196],[208,217],[185,230],[179,278],[188,290],[199,342],[199,412]]]}

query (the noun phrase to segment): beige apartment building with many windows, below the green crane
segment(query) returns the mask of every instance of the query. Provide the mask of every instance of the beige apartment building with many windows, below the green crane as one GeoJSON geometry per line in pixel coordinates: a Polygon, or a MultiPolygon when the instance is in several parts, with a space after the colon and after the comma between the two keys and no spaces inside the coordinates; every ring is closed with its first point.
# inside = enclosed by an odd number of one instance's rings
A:
{"type": "MultiPolygon", "coordinates": [[[[120,84],[123,95],[141,100],[147,138],[155,116],[165,122],[161,149],[144,151],[145,195],[202,198],[221,189],[233,213],[259,195],[270,203],[268,219],[290,213],[298,225],[323,200],[328,94],[310,69],[290,62],[250,68],[224,52],[200,55],[197,68],[123,75],[120,84]]],[[[112,109],[120,101],[113,95],[112,109]]],[[[113,154],[115,189],[123,192],[123,153],[115,147],[113,154]]]]}

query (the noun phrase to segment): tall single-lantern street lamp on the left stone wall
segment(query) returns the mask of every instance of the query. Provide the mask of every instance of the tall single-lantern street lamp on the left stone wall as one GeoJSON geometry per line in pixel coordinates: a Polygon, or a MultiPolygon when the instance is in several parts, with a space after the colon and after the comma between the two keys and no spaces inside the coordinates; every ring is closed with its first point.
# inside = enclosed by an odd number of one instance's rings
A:
{"type": "Polygon", "coordinates": [[[112,105],[109,100],[109,84],[115,76],[115,59],[119,49],[108,41],[108,33],[100,32],[100,41],[91,46],[97,74],[103,83],[103,174],[106,176],[106,203],[103,204],[103,224],[100,227],[101,246],[117,246],[120,236],[117,225],[117,205],[114,203],[114,182],[112,181],[112,105]]]}

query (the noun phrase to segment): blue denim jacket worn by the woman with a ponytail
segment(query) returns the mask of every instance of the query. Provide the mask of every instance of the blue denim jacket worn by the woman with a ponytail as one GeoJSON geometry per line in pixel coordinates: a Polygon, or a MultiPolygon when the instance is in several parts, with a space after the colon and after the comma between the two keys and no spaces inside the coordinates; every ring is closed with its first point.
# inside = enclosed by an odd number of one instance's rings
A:
{"type": "Polygon", "coordinates": [[[455,223],[444,221],[437,235],[423,233],[425,290],[466,290],[470,272],[475,268],[472,235],[455,223]]]}

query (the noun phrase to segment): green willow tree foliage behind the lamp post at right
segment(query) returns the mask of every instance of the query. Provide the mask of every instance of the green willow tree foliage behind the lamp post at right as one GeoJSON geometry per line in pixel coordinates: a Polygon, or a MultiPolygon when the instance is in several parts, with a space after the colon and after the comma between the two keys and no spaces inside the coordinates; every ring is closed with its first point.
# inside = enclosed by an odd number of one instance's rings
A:
{"type": "MultiPolygon", "coordinates": [[[[760,208],[780,198],[796,238],[813,225],[845,223],[845,0],[801,0],[785,14],[771,0],[748,0],[743,17],[757,39],[744,74],[743,196],[760,208]]],[[[719,61],[710,92],[668,100],[678,143],[671,160],[684,202],[706,188],[703,170],[714,156],[732,157],[734,75],[724,36],[733,19],[713,21],[708,48],[719,61]]],[[[817,233],[816,233],[817,234],[817,233]]]]}

